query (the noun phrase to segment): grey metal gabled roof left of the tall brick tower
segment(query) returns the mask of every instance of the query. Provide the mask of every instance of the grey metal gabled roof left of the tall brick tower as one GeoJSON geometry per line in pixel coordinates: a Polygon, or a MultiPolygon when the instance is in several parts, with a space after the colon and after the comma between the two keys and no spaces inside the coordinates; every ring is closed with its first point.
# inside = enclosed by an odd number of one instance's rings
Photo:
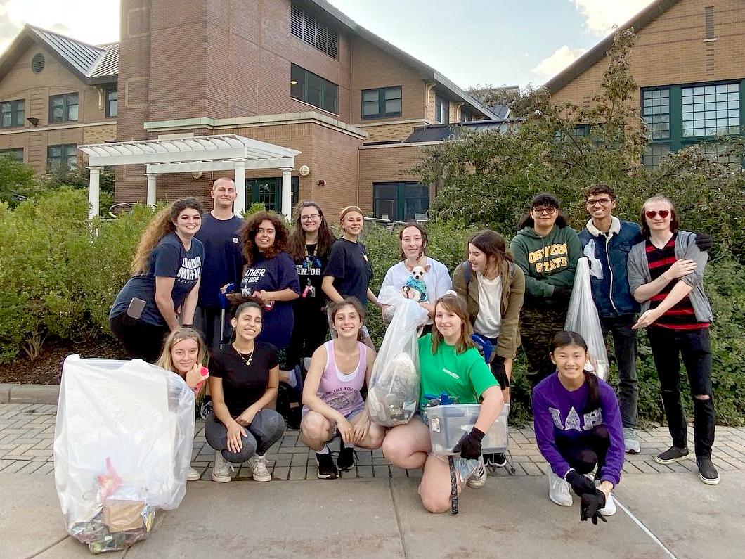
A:
{"type": "Polygon", "coordinates": [[[28,24],[24,25],[22,31],[0,57],[0,78],[34,43],[51,51],[63,66],[89,85],[113,83],[117,79],[119,72],[117,42],[99,46],[89,45],[87,42],[28,24]]]}

